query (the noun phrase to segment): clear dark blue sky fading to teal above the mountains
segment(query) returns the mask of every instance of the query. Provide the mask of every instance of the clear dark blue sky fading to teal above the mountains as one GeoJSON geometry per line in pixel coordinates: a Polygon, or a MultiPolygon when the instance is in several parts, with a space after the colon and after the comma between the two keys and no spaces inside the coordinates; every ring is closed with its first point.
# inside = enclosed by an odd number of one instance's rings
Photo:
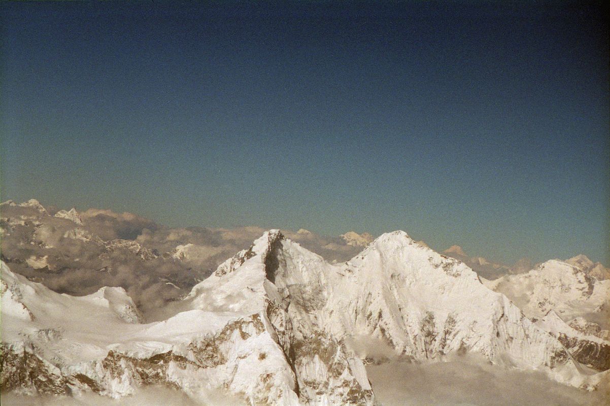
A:
{"type": "Polygon", "coordinates": [[[610,264],[601,2],[2,2],[2,200],[610,264]]]}

